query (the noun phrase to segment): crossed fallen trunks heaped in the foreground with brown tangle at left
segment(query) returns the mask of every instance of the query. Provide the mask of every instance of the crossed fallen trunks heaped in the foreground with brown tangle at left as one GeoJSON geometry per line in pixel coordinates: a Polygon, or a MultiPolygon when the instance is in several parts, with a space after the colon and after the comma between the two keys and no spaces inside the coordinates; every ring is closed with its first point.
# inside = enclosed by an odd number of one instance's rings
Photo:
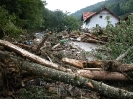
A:
{"type": "Polygon", "coordinates": [[[82,61],[63,58],[62,62],[75,66],[76,70],[50,62],[8,41],[0,40],[0,87],[2,95],[11,95],[12,90],[24,87],[33,78],[51,79],[79,88],[91,89],[102,95],[114,98],[132,99],[133,92],[115,88],[101,81],[132,80],[133,65],[118,61],[82,61]],[[100,80],[100,81],[99,81],[100,80]],[[3,91],[3,89],[5,90],[3,91]]]}

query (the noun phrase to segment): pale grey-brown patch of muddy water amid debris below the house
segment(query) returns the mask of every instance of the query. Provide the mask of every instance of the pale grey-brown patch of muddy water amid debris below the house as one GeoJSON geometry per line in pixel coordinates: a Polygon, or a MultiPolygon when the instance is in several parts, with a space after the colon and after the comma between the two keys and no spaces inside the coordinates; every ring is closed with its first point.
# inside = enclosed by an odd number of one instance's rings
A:
{"type": "Polygon", "coordinates": [[[85,43],[85,42],[70,42],[70,44],[74,44],[78,47],[80,47],[81,49],[85,50],[86,52],[88,52],[86,54],[86,59],[88,61],[91,61],[91,60],[96,60],[96,57],[94,57],[92,51],[99,48],[99,46],[97,44],[94,44],[94,43],[85,43]]]}

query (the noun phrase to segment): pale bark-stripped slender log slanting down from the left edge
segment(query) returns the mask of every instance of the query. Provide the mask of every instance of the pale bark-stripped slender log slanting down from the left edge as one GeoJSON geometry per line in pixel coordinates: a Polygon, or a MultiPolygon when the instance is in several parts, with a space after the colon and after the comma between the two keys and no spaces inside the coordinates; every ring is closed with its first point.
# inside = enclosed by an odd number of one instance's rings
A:
{"type": "Polygon", "coordinates": [[[10,43],[10,42],[4,41],[4,40],[0,40],[0,45],[5,46],[5,47],[13,50],[14,52],[22,55],[23,57],[26,57],[26,58],[28,58],[28,59],[30,59],[30,60],[32,60],[34,62],[37,62],[37,63],[39,63],[41,65],[44,65],[44,66],[47,66],[47,67],[51,67],[51,68],[54,68],[54,69],[57,69],[57,70],[61,70],[61,71],[67,71],[66,68],[61,67],[58,64],[52,63],[50,61],[47,61],[47,60],[45,60],[45,59],[43,59],[43,58],[41,58],[41,57],[39,57],[37,55],[34,55],[34,54],[32,54],[32,53],[30,53],[30,52],[28,52],[28,51],[26,51],[26,50],[24,50],[22,48],[10,43]]]}

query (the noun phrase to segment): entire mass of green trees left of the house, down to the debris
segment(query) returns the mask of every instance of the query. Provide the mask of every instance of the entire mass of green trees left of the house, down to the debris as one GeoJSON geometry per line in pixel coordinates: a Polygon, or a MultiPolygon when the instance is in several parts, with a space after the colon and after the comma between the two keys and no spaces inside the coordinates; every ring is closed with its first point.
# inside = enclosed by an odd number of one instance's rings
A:
{"type": "Polygon", "coordinates": [[[18,37],[21,33],[49,29],[50,31],[75,30],[79,23],[75,17],[60,10],[50,11],[41,0],[1,0],[0,32],[1,38],[6,35],[18,37]]]}

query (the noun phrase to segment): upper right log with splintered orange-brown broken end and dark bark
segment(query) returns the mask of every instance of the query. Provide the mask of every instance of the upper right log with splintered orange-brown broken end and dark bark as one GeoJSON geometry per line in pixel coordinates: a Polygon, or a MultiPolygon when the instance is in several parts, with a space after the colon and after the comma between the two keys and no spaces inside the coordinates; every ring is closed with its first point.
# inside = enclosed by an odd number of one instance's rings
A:
{"type": "Polygon", "coordinates": [[[77,68],[102,68],[102,70],[114,71],[114,72],[126,72],[132,71],[132,64],[121,64],[117,61],[102,61],[102,60],[94,60],[94,61],[81,61],[69,58],[63,58],[62,61],[64,63],[70,64],[77,68]]]}

